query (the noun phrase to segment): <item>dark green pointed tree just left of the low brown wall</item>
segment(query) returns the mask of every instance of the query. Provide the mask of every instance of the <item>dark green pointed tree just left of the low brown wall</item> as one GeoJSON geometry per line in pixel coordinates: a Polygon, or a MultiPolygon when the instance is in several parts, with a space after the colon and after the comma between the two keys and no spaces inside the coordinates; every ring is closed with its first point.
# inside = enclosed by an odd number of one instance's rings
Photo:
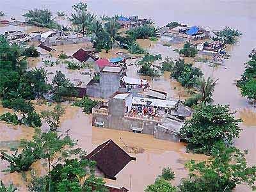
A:
{"type": "Polygon", "coordinates": [[[72,84],[68,79],[65,78],[65,75],[58,71],[52,79],[52,100],[56,102],[61,102],[62,97],[73,97],[77,95],[76,90],[74,89],[74,84],[72,84]]]}

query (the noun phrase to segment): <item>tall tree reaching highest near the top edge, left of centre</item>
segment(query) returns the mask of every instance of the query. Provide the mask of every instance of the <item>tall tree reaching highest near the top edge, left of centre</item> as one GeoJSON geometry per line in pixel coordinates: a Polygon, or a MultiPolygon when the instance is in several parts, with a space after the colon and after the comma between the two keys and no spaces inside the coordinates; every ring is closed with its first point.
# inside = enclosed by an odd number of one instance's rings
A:
{"type": "Polygon", "coordinates": [[[82,31],[84,36],[86,32],[90,32],[89,29],[93,23],[93,20],[95,20],[95,15],[87,11],[86,3],[80,2],[74,4],[72,8],[74,8],[75,13],[71,14],[70,21],[75,26],[78,26],[78,28],[82,31]]]}

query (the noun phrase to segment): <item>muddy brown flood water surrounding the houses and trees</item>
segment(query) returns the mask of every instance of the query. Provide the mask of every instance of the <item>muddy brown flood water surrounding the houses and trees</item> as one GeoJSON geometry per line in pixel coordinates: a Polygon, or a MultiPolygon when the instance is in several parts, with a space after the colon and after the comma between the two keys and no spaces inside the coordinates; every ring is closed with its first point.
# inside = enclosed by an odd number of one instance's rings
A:
{"type": "MultiPolygon", "coordinates": [[[[202,65],[201,67],[205,76],[219,78],[214,91],[214,103],[229,104],[232,110],[237,111],[236,116],[243,118],[244,122],[241,124],[243,132],[241,132],[241,136],[235,141],[235,144],[239,148],[248,150],[248,156],[246,157],[248,163],[256,164],[256,111],[246,98],[241,97],[241,93],[235,84],[235,81],[243,73],[243,63],[248,60],[248,53],[253,47],[256,47],[255,0],[91,0],[84,2],[88,3],[88,8],[97,15],[140,15],[141,17],[154,19],[157,26],[163,26],[169,21],[176,20],[190,25],[209,26],[212,29],[231,26],[242,31],[243,36],[239,38],[238,44],[231,47],[231,57],[225,61],[225,66],[211,68],[202,65]]],[[[7,18],[21,19],[20,15],[32,8],[49,8],[54,13],[57,11],[70,13],[71,6],[74,3],[77,3],[77,1],[1,0],[0,10],[6,13],[7,18]]],[[[158,44],[150,47],[149,51],[162,53],[163,56],[177,57],[172,48],[158,44]]],[[[130,71],[131,76],[137,76],[134,74],[136,71],[134,68],[130,71]]],[[[152,83],[152,87],[166,90],[170,97],[184,95],[184,90],[180,88],[179,84],[170,81],[168,74],[156,79],[152,83]],[[182,94],[173,91],[174,87],[177,87],[182,94]]],[[[202,156],[186,154],[182,143],[155,140],[152,136],[137,135],[131,132],[99,129],[92,127],[91,117],[84,115],[80,109],[67,108],[66,112],[60,129],[70,129],[70,135],[74,139],[79,139],[79,145],[88,152],[109,138],[129,152],[130,149],[125,148],[124,143],[120,141],[120,137],[127,146],[138,148],[141,151],[138,154],[131,154],[137,157],[137,161],[129,163],[122,172],[118,173],[116,181],[107,180],[108,184],[125,186],[132,192],[141,192],[145,186],[154,182],[163,166],[173,168],[177,175],[174,184],[177,184],[187,174],[183,166],[184,161],[193,158],[204,159],[202,156]]],[[[22,138],[29,138],[28,132],[33,133],[29,128],[26,130],[26,127],[0,124],[0,128],[1,141],[17,140],[18,134],[21,134],[22,138]],[[12,138],[8,136],[8,132],[13,134],[12,138]]],[[[0,168],[3,169],[5,166],[5,163],[1,164],[0,168]]],[[[19,175],[15,174],[11,177],[0,173],[0,176],[4,181],[16,181],[15,184],[20,184],[20,180],[22,180],[19,175]]],[[[25,189],[25,187],[22,189],[25,189]]],[[[240,186],[236,191],[251,190],[240,186]]]]}

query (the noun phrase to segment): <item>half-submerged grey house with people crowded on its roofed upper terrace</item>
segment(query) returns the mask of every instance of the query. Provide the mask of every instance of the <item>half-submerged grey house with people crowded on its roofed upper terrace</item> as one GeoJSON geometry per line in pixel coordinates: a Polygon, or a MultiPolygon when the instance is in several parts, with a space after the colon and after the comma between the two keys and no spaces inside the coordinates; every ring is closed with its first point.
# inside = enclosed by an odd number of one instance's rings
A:
{"type": "MultiPolygon", "coordinates": [[[[135,133],[152,134],[154,138],[180,141],[179,129],[184,124],[180,100],[132,97],[129,92],[116,92],[108,102],[92,110],[93,126],[135,133]],[[179,114],[176,114],[180,111],[179,114]],[[180,117],[181,116],[181,117],[180,117]]],[[[191,115],[191,113],[190,113],[191,115]]]]}

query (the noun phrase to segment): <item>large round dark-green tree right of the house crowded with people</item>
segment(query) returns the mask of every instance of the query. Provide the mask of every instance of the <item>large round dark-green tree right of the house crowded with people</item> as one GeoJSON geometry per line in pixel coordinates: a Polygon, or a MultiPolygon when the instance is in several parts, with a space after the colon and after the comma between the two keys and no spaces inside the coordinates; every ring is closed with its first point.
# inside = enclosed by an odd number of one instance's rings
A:
{"type": "Polygon", "coordinates": [[[188,142],[187,149],[211,154],[212,146],[220,141],[231,145],[241,132],[241,119],[236,119],[234,113],[228,106],[198,106],[180,129],[180,136],[188,142]]]}

